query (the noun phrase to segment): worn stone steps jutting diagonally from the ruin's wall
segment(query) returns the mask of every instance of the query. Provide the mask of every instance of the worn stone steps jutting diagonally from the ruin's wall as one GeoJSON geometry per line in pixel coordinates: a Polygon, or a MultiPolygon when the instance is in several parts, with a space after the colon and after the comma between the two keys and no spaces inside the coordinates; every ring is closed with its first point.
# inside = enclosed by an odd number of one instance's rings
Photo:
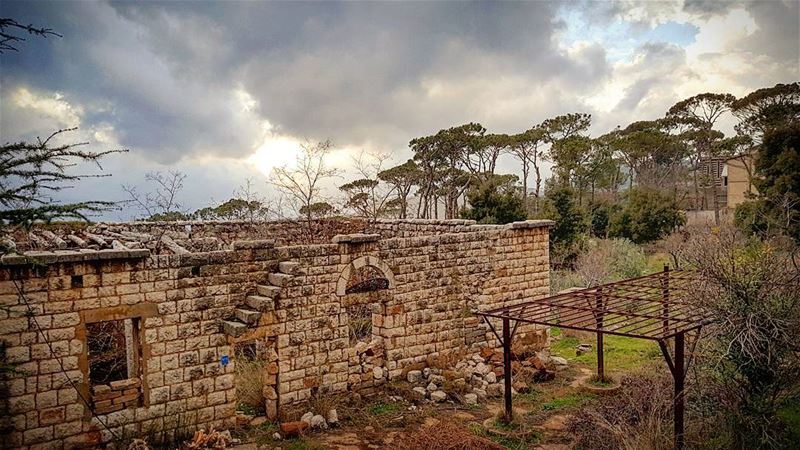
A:
{"type": "Polygon", "coordinates": [[[244,304],[236,306],[233,316],[220,321],[225,334],[239,337],[257,327],[263,313],[275,311],[281,289],[299,270],[299,263],[291,261],[278,263],[278,272],[267,276],[267,284],[256,285],[255,293],[248,295],[244,304]]]}

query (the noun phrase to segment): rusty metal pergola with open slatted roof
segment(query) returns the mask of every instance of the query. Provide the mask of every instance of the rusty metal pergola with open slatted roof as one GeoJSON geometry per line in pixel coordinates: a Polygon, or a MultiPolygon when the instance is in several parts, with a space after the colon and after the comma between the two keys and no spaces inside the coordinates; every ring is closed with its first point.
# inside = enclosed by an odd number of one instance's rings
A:
{"type": "MultiPolygon", "coordinates": [[[[588,331],[597,335],[597,375],[605,378],[603,336],[658,342],[675,386],[675,448],[684,446],[684,384],[695,345],[709,314],[690,300],[698,281],[693,271],[670,271],[566,292],[513,306],[478,312],[503,345],[504,374],[511,374],[511,341],[520,323],[588,331]],[[491,319],[502,321],[498,333],[491,319]],[[513,326],[512,323],[513,322],[513,326]],[[686,338],[689,357],[686,358],[686,338]],[[670,345],[671,344],[671,345],[670,345]],[[670,354],[670,347],[673,348],[670,354]]],[[[511,377],[505,376],[505,416],[512,418],[511,377]]]]}

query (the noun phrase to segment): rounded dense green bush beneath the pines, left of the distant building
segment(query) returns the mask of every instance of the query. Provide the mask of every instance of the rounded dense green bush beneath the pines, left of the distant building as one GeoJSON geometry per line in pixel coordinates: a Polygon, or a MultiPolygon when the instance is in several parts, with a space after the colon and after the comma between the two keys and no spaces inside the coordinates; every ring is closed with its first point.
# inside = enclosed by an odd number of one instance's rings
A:
{"type": "Polygon", "coordinates": [[[612,217],[608,234],[643,244],[661,239],[685,223],[674,198],[639,188],[628,192],[627,203],[612,217]]]}

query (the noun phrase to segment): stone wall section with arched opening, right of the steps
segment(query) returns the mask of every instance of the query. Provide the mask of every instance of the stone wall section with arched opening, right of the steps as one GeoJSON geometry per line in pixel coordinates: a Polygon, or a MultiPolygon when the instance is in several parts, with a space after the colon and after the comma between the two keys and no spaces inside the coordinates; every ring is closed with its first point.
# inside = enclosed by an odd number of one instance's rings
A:
{"type": "MultiPolygon", "coordinates": [[[[526,224],[457,224],[461,231],[446,234],[278,249],[280,259],[306,269],[278,310],[287,324],[278,338],[281,404],[305,400],[317,388],[371,387],[431,357],[497,345],[474,312],[549,293],[547,223],[526,224]],[[341,295],[337,286],[351,264],[381,267],[389,289],[341,295]],[[353,302],[374,306],[367,364],[348,339],[345,306],[353,302]]],[[[520,337],[527,330],[521,327],[520,337]]]]}

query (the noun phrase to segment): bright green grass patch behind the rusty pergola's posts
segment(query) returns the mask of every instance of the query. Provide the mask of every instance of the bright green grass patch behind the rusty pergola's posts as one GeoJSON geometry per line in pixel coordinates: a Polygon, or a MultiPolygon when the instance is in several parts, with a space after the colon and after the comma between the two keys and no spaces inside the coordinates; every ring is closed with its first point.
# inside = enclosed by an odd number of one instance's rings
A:
{"type": "MultiPolygon", "coordinates": [[[[551,336],[561,335],[556,328],[550,329],[551,336]]],[[[658,344],[646,339],[634,339],[624,336],[605,335],[605,365],[609,371],[628,371],[645,365],[646,363],[661,358],[658,344]]],[[[581,341],[574,337],[563,337],[553,342],[550,353],[566,358],[570,363],[582,363],[588,366],[597,365],[597,344],[591,342],[592,351],[580,356],[575,354],[575,347],[581,341]]]]}

